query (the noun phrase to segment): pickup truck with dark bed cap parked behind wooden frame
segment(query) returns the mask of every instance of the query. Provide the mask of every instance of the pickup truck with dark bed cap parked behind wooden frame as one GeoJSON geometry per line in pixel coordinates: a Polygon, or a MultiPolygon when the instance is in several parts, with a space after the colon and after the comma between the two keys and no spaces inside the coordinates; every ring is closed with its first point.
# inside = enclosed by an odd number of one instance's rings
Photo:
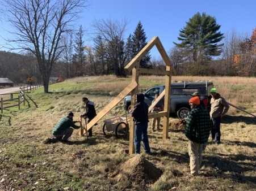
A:
{"type": "MultiPolygon", "coordinates": [[[[178,118],[187,119],[190,112],[188,100],[192,97],[191,94],[194,92],[200,94],[200,101],[203,102],[205,108],[207,108],[208,96],[211,95],[210,90],[212,88],[213,83],[208,81],[199,83],[171,83],[170,114],[175,114],[178,118]]],[[[164,89],[165,85],[157,85],[146,90],[144,92],[145,103],[150,106],[155,95],[157,93],[161,94],[164,89]]],[[[124,110],[129,110],[130,106],[131,95],[128,95],[124,98],[124,110]]]]}

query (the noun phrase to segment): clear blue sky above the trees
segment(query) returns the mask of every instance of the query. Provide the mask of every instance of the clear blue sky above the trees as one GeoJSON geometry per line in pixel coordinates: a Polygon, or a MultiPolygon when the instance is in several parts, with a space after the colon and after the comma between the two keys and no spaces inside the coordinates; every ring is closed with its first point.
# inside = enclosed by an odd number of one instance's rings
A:
{"type": "MultiPolygon", "coordinates": [[[[173,42],[179,42],[179,30],[186,26],[186,22],[197,12],[206,12],[214,16],[220,31],[224,34],[231,33],[235,29],[240,34],[251,35],[256,27],[256,1],[171,1],[171,0],[89,0],[90,7],[83,13],[80,23],[83,29],[90,29],[91,23],[95,19],[117,19],[128,20],[128,35],[135,31],[139,21],[144,28],[148,41],[154,36],[158,36],[166,51],[174,46],[173,42]]],[[[3,32],[2,28],[7,25],[0,21],[0,36],[8,37],[9,34],[3,32]]],[[[79,28],[79,26],[78,26],[79,28]]],[[[5,43],[0,37],[0,50],[5,43]]],[[[85,43],[90,42],[85,39],[85,43]]],[[[7,50],[6,50],[7,51],[7,50]]],[[[156,48],[151,51],[152,55],[158,56],[156,48]]]]}

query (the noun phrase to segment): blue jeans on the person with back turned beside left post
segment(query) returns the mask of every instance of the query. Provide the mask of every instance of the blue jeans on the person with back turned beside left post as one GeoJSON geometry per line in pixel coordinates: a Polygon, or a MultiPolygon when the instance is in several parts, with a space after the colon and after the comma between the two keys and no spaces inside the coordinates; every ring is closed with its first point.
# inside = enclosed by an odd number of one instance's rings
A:
{"type": "Polygon", "coordinates": [[[144,150],[150,154],[149,138],[148,138],[148,123],[135,124],[134,144],[135,154],[140,154],[140,142],[143,141],[144,150]]]}

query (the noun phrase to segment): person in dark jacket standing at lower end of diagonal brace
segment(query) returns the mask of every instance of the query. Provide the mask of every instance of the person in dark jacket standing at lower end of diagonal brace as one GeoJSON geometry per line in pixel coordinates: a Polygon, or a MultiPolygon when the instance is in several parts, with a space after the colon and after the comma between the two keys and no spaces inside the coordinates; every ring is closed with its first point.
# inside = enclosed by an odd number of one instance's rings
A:
{"type": "MultiPolygon", "coordinates": [[[[82,101],[83,101],[83,103],[85,103],[86,112],[85,112],[85,114],[81,115],[80,117],[85,118],[85,119],[88,118],[87,123],[89,123],[96,116],[96,110],[94,107],[94,103],[92,101],[89,101],[89,99],[86,97],[83,97],[82,101]]],[[[89,137],[93,136],[93,127],[91,127],[89,129],[88,133],[89,133],[88,134],[89,137]]]]}

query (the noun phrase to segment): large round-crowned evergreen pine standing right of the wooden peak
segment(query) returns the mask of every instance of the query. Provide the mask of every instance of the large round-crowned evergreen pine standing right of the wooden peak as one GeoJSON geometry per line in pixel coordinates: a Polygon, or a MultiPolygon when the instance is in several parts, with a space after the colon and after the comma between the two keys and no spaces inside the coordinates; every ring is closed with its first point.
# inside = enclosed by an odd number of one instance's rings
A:
{"type": "Polygon", "coordinates": [[[221,54],[223,44],[218,43],[224,36],[219,32],[220,27],[214,17],[205,12],[202,15],[198,12],[189,19],[186,27],[179,31],[178,40],[181,44],[175,42],[174,44],[186,53],[190,53],[190,60],[194,64],[202,64],[221,54]]]}

